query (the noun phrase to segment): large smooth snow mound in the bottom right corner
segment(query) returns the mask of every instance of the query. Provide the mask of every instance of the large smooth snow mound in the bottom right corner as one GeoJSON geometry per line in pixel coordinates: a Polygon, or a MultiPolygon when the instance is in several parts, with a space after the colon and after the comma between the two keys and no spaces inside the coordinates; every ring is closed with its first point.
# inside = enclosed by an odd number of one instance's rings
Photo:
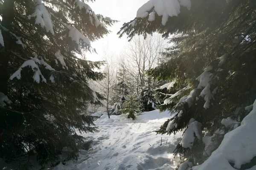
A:
{"type": "MultiPolygon", "coordinates": [[[[256,156],[256,100],[253,110],[243,119],[241,126],[228,132],[221,145],[200,165],[198,170],[236,170],[256,156]],[[233,167],[230,165],[233,164],[233,167]]],[[[256,166],[250,168],[255,170],[256,166]]]]}

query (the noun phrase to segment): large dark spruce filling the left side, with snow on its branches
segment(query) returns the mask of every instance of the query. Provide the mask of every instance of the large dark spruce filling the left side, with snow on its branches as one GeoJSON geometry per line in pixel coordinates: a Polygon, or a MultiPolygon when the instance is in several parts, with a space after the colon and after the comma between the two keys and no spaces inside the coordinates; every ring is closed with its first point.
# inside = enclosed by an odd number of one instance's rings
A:
{"type": "Polygon", "coordinates": [[[0,1],[0,157],[18,160],[37,153],[44,166],[58,160],[62,147],[76,158],[95,118],[86,103],[99,102],[87,80],[102,62],[80,57],[95,51],[116,21],[103,17],[86,0],[0,1]]]}

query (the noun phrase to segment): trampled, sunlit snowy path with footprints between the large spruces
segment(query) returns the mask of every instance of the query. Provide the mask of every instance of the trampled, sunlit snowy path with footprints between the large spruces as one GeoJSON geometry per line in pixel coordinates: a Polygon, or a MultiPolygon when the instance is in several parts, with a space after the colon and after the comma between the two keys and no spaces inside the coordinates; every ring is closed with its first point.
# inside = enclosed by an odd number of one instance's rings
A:
{"type": "Polygon", "coordinates": [[[125,116],[101,116],[96,121],[99,131],[84,134],[93,139],[93,147],[81,151],[78,161],[58,165],[55,170],[172,170],[173,150],[181,134],[156,135],[156,130],[169,118],[168,112],[145,112],[136,121],[125,116]],[[162,143],[160,146],[162,137],[162,143]],[[151,145],[151,146],[150,146],[151,145]]]}

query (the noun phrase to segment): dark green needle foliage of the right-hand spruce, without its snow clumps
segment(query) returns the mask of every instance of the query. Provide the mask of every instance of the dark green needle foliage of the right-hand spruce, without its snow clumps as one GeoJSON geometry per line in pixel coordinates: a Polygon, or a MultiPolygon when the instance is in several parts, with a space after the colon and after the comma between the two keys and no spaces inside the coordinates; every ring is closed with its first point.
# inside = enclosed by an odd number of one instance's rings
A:
{"type": "MultiPolygon", "coordinates": [[[[221,125],[221,120],[231,117],[241,122],[248,114],[244,107],[251,105],[256,98],[256,1],[191,2],[190,10],[181,6],[180,14],[169,17],[165,26],[161,24],[162,16],[156,14],[152,22],[144,17],[134,19],[135,24],[131,24],[134,20],[124,23],[119,35],[122,37],[127,34],[131,39],[137,34],[146,37],[152,32],[159,32],[180,48],[179,51],[167,49],[163,53],[164,62],[147,71],[154,78],[176,81],[175,88],[166,91],[167,94],[179,91],[179,95],[170,99],[168,105],[160,106],[162,111],[167,109],[175,116],[156,130],[157,133],[170,134],[186,130],[191,118],[201,122],[204,135],[211,136],[220,129],[227,133],[230,129],[221,125]],[[171,34],[183,36],[170,37],[171,34]],[[224,54],[225,63],[222,64],[219,57],[224,54]],[[209,107],[205,108],[206,99],[201,95],[204,88],[198,88],[199,81],[196,80],[204,71],[212,76],[209,91],[213,96],[209,100],[209,107]],[[193,102],[182,102],[184,95],[189,95],[192,89],[195,89],[193,102]],[[178,116],[180,111],[183,111],[182,116],[178,116]],[[177,125],[166,131],[169,121],[173,119],[177,125]]],[[[167,96],[162,97],[168,99],[167,96]]],[[[216,135],[212,139],[216,144],[214,149],[222,139],[223,135],[216,135]]],[[[202,140],[195,137],[192,149],[178,144],[175,153],[193,160],[191,162],[195,166],[209,157],[203,154],[204,149],[202,140]]],[[[248,166],[253,165],[255,161],[253,163],[252,159],[248,166]]]]}

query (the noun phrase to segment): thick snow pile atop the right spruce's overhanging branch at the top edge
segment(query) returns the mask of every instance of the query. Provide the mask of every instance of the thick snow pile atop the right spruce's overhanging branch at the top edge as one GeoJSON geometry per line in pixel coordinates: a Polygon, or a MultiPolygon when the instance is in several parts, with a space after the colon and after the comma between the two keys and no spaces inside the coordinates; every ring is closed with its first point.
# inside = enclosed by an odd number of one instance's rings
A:
{"type": "MultiPolygon", "coordinates": [[[[154,8],[158,16],[162,17],[162,25],[165,26],[169,17],[178,16],[180,14],[180,6],[185,6],[190,10],[190,0],[149,0],[137,11],[137,17],[144,18],[148,16],[148,11],[154,8]]],[[[154,21],[155,13],[151,12],[148,21],[154,21]]]]}

